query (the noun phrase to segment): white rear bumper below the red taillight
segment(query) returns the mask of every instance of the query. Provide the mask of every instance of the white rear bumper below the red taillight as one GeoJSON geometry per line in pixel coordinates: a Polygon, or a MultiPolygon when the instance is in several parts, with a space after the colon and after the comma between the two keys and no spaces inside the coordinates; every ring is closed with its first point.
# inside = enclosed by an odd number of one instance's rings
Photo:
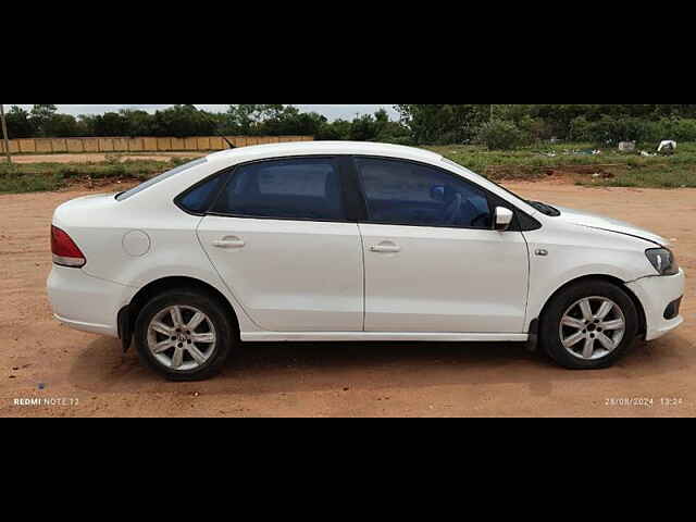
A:
{"type": "Polygon", "coordinates": [[[48,297],[58,321],[71,328],[119,337],[119,311],[136,289],[99,279],[79,269],[53,266],[48,297]]]}

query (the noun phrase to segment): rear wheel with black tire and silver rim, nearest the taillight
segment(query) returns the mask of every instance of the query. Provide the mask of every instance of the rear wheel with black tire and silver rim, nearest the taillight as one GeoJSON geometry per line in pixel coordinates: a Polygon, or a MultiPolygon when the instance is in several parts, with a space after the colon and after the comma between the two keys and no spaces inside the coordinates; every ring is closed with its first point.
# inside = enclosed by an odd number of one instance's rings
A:
{"type": "Polygon", "coordinates": [[[152,298],[135,324],[140,360],[170,381],[212,377],[237,346],[228,314],[217,299],[192,288],[152,298]]]}

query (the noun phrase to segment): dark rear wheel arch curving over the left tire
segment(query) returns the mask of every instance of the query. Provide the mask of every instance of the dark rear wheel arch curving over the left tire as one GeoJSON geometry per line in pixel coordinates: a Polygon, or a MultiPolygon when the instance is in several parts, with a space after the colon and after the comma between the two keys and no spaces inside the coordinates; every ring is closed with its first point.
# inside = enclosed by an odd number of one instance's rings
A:
{"type": "Polygon", "coordinates": [[[124,351],[130,347],[133,332],[135,331],[135,323],[142,308],[154,296],[176,288],[195,289],[208,294],[217,300],[228,312],[228,316],[232,320],[233,331],[237,336],[237,340],[239,340],[239,318],[237,316],[237,312],[229,300],[219,289],[195,277],[170,276],[156,279],[140,288],[130,300],[130,303],[119,312],[119,337],[123,344],[124,351]]]}

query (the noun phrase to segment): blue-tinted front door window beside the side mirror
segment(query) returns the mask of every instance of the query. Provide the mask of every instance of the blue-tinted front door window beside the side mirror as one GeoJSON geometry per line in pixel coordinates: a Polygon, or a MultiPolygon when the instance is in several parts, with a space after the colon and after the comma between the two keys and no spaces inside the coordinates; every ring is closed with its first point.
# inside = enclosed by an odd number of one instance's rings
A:
{"type": "Polygon", "coordinates": [[[483,189],[438,169],[399,160],[356,159],[371,223],[490,228],[483,189]]]}

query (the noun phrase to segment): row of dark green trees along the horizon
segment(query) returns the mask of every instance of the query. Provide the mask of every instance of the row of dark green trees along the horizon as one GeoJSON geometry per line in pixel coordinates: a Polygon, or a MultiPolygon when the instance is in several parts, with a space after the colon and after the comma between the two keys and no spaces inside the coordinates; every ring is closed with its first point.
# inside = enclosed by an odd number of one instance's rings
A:
{"type": "Polygon", "coordinates": [[[7,114],[11,138],[37,136],[287,136],[315,139],[412,144],[463,144],[481,136],[482,125],[509,122],[523,144],[551,137],[598,142],[618,139],[685,137],[696,128],[696,104],[400,104],[400,120],[385,110],[353,121],[328,122],[315,112],[284,104],[229,105],[227,112],[201,113],[195,105],[173,105],[150,114],[122,110],[96,115],[58,113],[57,105],[14,105],[7,114]]]}

